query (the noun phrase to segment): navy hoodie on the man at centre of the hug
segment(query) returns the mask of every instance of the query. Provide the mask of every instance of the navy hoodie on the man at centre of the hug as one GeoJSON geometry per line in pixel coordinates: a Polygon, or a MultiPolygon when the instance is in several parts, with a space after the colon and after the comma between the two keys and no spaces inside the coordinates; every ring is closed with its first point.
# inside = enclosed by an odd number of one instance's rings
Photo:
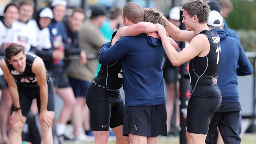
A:
{"type": "Polygon", "coordinates": [[[103,65],[121,59],[125,107],[165,103],[161,41],[141,33],[122,37],[110,48],[109,45],[102,46],[98,59],[103,65]]]}

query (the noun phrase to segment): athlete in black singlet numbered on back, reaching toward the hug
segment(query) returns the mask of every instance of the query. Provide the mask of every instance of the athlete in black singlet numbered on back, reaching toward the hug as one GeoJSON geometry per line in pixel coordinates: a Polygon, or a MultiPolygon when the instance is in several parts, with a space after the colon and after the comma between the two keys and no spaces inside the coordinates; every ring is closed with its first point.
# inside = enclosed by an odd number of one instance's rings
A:
{"type": "Polygon", "coordinates": [[[156,24],[158,34],[169,60],[174,66],[189,61],[189,76],[192,87],[187,107],[187,142],[204,144],[213,114],[221,104],[221,91],[217,85],[220,65],[220,38],[208,28],[210,7],[202,0],[184,3],[182,31],[165,18],[167,29],[156,24]],[[189,41],[189,45],[177,52],[167,41],[166,31],[177,41],[189,41]]]}

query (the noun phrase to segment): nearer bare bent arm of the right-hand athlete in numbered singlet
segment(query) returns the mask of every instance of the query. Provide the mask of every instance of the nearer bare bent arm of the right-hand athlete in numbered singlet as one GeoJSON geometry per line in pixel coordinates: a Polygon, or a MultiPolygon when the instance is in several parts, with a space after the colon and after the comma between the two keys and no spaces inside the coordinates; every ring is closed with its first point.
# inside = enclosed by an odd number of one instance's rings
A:
{"type": "Polygon", "coordinates": [[[161,25],[157,25],[158,34],[161,37],[163,48],[168,59],[174,66],[179,66],[193,59],[202,52],[210,50],[210,43],[204,35],[197,35],[181,52],[177,52],[170,44],[168,37],[165,35],[165,29],[161,25]]]}

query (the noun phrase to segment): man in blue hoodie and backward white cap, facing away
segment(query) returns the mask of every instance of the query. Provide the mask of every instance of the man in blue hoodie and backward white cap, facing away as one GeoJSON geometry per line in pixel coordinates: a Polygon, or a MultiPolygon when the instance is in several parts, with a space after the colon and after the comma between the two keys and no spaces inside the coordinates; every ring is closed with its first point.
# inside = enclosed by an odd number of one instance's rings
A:
{"type": "Polygon", "coordinates": [[[213,115],[206,137],[206,144],[215,144],[214,135],[217,127],[225,144],[240,144],[239,113],[241,106],[237,89],[237,76],[252,74],[252,65],[235,38],[223,30],[223,17],[217,11],[211,11],[208,26],[218,33],[221,40],[221,65],[218,86],[222,94],[219,110],[213,115]]]}

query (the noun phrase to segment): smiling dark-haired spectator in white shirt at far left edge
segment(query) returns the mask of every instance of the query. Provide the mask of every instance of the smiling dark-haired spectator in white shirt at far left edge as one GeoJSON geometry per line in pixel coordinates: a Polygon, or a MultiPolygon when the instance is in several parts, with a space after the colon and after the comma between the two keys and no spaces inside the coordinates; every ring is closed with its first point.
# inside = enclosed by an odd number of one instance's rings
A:
{"type": "MultiPolygon", "coordinates": [[[[4,9],[3,17],[0,17],[0,55],[5,54],[8,44],[13,41],[13,22],[19,18],[19,7],[13,3],[7,4],[4,9]]],[[[0,69],[0,96],[2,94],[2,103],[0,107],[0,143],[8,142],[6,134],[6,126],[11,112],[11,97],[9,94],[6,79],[4,79],[3,71],[0,69]]]]}

